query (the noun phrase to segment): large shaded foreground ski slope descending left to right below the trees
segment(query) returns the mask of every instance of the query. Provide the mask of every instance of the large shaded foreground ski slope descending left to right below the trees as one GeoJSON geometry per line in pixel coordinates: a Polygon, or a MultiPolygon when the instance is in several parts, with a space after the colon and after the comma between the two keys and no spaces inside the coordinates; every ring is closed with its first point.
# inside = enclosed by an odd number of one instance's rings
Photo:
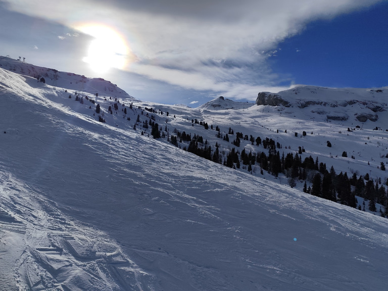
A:
{"type": "Polygon", "coordinates": [[[0,73],[12,88],[1,95],[5,289],[385,288],[388,220],[99,123],[68,93],[0,73]]]}

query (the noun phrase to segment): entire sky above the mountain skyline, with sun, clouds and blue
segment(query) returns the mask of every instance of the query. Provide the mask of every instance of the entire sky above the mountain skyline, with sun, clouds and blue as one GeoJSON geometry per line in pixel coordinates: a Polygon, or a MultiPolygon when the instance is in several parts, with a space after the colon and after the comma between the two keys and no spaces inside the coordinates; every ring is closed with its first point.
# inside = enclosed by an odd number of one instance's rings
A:
{"type": "Polygon", "coordinates": [[[254,101],[294,84],[388,86],[388,2],[0,0],[0,55],[144,101],[254,101]]]}

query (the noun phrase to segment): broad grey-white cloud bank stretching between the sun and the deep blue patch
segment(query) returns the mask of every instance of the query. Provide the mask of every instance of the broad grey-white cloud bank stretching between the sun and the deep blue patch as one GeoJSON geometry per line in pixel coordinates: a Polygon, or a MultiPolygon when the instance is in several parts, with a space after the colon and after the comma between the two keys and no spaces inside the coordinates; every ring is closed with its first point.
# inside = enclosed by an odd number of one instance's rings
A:
{"type": "Polygon", "coordinates": [[[244,99],[258,90],[284,89],[278,85],[284,80],[266,63],[276,56],[279,41],[300,32],[308,21],[378,0],[7,2],[15,11],[72,28],[96,22],[114,27],[135,56],[128,71],[244,99]]]}

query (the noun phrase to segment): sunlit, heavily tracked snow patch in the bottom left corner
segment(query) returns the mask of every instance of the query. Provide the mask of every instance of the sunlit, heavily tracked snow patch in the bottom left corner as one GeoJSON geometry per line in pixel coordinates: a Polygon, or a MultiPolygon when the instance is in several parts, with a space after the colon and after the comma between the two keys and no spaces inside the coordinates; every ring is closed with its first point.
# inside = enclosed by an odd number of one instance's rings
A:
{"type": "Polygon", "coordinates": [[[1,247],[13,259],[0,261],[6,289],[13,280],[20,290],[142,290],[152,281],[103,232],[79,225],[15,178],[1,181],[1,247]]]}

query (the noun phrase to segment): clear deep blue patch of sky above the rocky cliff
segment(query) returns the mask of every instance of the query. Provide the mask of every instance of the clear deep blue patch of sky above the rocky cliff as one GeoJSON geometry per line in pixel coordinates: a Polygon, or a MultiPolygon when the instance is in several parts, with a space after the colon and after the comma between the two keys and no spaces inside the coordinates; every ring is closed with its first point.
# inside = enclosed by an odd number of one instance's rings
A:
{"type": "Polygon", "coordinates": [[[278,47],[271,68],[296,84],[387,86],[388,2],[310,22],[278,47]]]}

